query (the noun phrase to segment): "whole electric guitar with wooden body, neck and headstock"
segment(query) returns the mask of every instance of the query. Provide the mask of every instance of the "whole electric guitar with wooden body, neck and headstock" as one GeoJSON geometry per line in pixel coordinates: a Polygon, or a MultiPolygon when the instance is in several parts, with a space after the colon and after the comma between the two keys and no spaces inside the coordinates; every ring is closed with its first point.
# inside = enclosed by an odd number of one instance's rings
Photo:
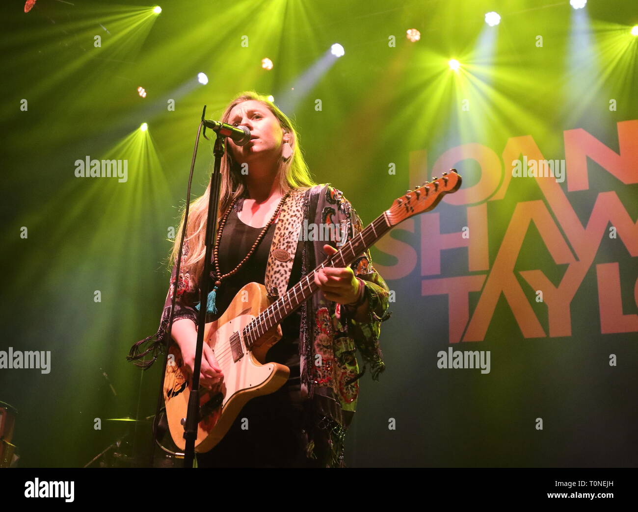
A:
{"type": "MultiPolygon", "coordinates": [[[[269,299],[265,286],[256,282],[239,290],[224,314],[204,328],[204,342],[211,347],[224,378],[210,389],[200,387],[195,451],[204,453],[214,448],[248,400],[274,393],[288,380],[290,369],[279,363],[264,364],[266,353],[281,339],[279,322],[319,289],[315,272],[323,267],[348,267],[392,226],[432,210],[445,194],[456,192],[460,186],[461,176],[452,169],[441,178],[408,190],[277,300],[269,299]],[[242,300],[246,297],[248,302],[242,300]]],[[[168,353],[163,386],[168,428],[174,443],[184,450],[184,423],[192,384],[175,342],[170,344],[168,353]]]]}

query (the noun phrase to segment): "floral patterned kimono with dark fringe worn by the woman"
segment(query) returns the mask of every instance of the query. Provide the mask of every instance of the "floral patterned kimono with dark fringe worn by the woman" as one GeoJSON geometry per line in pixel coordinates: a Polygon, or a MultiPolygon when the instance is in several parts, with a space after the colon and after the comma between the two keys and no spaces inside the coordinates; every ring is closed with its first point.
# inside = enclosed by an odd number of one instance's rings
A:
{"type": "MultiPolygon", "coordinates": [[[[357,212],[341,191],[329,184],[320,184],[308,189],[302,201],[304,224],[316,226],[332,224],[338,229],[327,230],[332,240],[304,240],[302,237],[303,259],[301,274],[315,269],[325,258],[323,245],[330,244],[339,249],[344,241],[350,240],[363,230],[364,226],[357,212]],[[341,237],[341,239],[339,238],[341,237]],[[339,245],[337,244],[339,242],[339,245]]],[[[322,238],[322,237],[319,237],[322,238]]],[[[188,247],[184,244],[184,252],[188,247]]],[[[182,254],[177,299],[175,300],[174,321],[190,318],[197,324],[199,290],[184,266],[182,254]]],[[[343,462],[343,441],[346,430],[352,423],[359,396],[358,379],[371,365],[371,374],[378,381],[378,375],[385,369],[380,349],[379,335],[382,321],[390,316],[388,309],[389,288],[372,265],[369,251],[360,254],[350,265],[357,277],[366,284],[369,312],[366,321],[360,323],[351,318],[348,310],[336,302],[326,300],[322,291],[317,291],[301,307],[299,335],[300,385],[302,395],[311,401],[315,418],[315,428],[305,432],[308,439],[306,454],[309,458],[319,458],[326,467],[345,467],[343,462]],[[356,352],[364,359],[364,368],[359,369],[356,352]],[[319,356],[319,357],[318,357],[319,356]]],[[[131,347],[129,360],[140,359],[154,353],[151,362],[136,363],[148,367],[157,357],[161,346],[167,346],[168,321],[175,283],[175,267],[170,279],[170,287],[165,301],[158,332],[131,347]],[[152,344],[142,353],[142,344],[152,344]]],[[[288,288],[296,284],[289,282],[288,288]]]]}

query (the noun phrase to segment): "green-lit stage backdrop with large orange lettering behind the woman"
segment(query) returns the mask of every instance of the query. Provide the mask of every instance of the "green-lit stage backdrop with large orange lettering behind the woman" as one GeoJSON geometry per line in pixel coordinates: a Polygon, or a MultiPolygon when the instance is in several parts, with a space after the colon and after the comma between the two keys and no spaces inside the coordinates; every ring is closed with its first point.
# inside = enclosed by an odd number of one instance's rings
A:
{"type": "MultiPolygon", "coordinates": [[[[160,365],[125,356],[158,327],[202,106],[218,119],[247,89],[274,96],[316,181],[366,224],[463,176],[372,249],[394,292],[387,369],[360,381],[346,464],[637,465],[635,2],[160,5],[2,5],[0,351],[51,353],[48,374],[0,368],[20,466],[82,466],[132,443],[108,418],[154,413],[160,365]],[[126,180],[76,177],[87,156],[127,159],[126,180]],[[565,174],[513,176],[524,159],[565,174]],[[489,373],[438,367],[449,348],[489,351],[489,373]]],[[[193,199],[211,163],[204,142],[193,199]]]]}

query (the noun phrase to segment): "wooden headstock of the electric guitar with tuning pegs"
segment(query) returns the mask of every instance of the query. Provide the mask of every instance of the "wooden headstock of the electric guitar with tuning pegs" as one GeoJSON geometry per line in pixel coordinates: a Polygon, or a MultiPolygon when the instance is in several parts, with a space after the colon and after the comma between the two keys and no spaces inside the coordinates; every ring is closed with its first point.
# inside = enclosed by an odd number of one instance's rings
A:
{"type": "Polygon", "coordinates": [[[440,178],[434,177],[431,182],[426,182],[414,190],[408,190],[403,196],[394,200],[387,210],[387,218],[390,226],[396,226],[408,217],[429,212],[445,194],[452,194],[461,187],[461,176],[456,169],[444,172],[440,178]]]}

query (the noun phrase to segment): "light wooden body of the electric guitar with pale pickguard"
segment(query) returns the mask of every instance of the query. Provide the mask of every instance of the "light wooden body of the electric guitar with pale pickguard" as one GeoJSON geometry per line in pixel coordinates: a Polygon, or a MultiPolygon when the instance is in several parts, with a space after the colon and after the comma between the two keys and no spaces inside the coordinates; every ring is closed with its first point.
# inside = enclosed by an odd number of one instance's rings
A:
{"type": "MultiPolygon", "coordinates": [[[[204,328],[204,343],[211,347],[223,373],[223,381],[212,388],[200,386],[200,422],[195,451],[212,450],[221,441],[248,400],[274,393],[285,384],[290,369],[266,363],[268,350],[281,339],[281,326],[263,334],[252,349],[246,347],[242,330],[269,305],[263,284],[246,284],[216,321],[204,328]],[[239,335],[239,339],[237,336],[239,335]],[[234,349],[231,346],[234,340],[234,349]],[[241,351],[241,352],[240,352],[241,351]],[[241,355],[241,356],[240,356],[241,355]],[[237,358],[239,356],[239,358],[237,358]]],[[[164,376],[164,401],[168,428],[174,443],[184,450],[184,426],[192,384],[184,372],[179,346],[172,342],[164,376]],[[183,420],[182,420],[183,419],[183,420]]]]}

